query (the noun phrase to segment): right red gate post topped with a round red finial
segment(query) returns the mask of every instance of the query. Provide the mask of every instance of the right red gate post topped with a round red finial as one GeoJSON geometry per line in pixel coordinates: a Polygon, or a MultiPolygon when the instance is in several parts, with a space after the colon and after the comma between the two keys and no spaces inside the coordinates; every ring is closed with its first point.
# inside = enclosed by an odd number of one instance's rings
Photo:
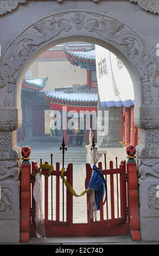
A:
{"type": "Polygon", "coordinates": [[[130,234],[133,241],[141,240],[139,231],[139,202],[138,202],[138,178],[137,164],[134,160],[136,149],[133,146],[126,148],[128,154],[127,175],[128,175],[128,200],[130,205],[130,234]]]}

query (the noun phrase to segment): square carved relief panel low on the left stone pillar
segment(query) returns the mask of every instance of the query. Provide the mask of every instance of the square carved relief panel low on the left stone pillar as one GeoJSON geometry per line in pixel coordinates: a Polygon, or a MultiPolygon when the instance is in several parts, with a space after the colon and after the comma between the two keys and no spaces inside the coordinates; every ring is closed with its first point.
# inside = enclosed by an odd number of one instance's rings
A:
{"type": "Polygon", "coordinates": [[[0,213],[9,212],[11,209],[11,190],[8,187],[1,187],[0,213]]]}

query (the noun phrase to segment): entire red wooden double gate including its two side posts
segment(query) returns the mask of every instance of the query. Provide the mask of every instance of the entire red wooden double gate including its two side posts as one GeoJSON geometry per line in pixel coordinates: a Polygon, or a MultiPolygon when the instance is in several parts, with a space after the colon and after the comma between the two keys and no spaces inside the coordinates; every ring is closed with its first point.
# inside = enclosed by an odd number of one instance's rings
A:
{"type": "MultiPolygon", "coordinates": [[[[102,169],[101,162],[99,162],[98,167],[102,169]]],[[[39,172],[37,163],[32,162],[31,171],[28,158],[23,158],[21,169],[22,242],[28,241],[29,236],[36,236],[34,223],[35,201],[33,197],[35,178],[32,175],[30,186],[31,172],[39,172]]],[[[46,175],[48,172],[49,170],[42,170],[42,173],[46,175]]],[[[92,168],[90,164],[86,163],[85,187],[87,187],[88,180],[91,178],[91,173],[92,168]]],[[[87,223],[73,223],[73,196],[66,187],[65,191],[61,193],[62,179],[60,178],[60,164],[56,163],[56,169],[49,177],[42,175],[44,179],[43,205],[46,236],[130,234],[132,240],[140,240],[137,169],[135,161],[127,163],[127,168],[125,161],[120,163],[119,168],[113,168],[113,162],[111,161],[109,169],[103,169],[103,174],[107,181],[106,203],[103,205],[103,200],[100,201],[100,210],[98,211],[99,216],[97,216],[97,220],[90,220],[90,194],[87,193],[87,223]]],[[[73,187],[72,163],[68,164],[64,176],[67,182],[73,187]]]]}

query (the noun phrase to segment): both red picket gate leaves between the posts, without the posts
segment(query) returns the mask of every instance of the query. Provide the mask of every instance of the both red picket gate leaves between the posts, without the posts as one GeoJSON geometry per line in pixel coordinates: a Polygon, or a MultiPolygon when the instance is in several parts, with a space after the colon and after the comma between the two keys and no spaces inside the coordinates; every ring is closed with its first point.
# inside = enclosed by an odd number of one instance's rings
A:
{"type": "MultiPolygon", "coordinates": [[[[99,163],[101,167],[101,162],[99,163]]],[[[37,172],[36,162],[32,162],[32,172],[37,172]]],[[[44,174],[48,174],[48,170],[42,170],[44,174]]],[[[85,186],[87,187],[88,180],[91,178],[92,168],[90,164],[86,164],[86,180],[85,186]]],[[[126,166],[125,161],[120,164],[119,168],[113,169],[113,163],[110,162],[110,169],[103,170],[106,177],[107,185],[110,180],[110,187],[107,186],[107,200],[105,207],[103,201],[100,202],[100,217],[99,220],[90,220],[90,209],[87,207],[87,223],[73,223],[73,196],[66,190],[65,210],[66,214],[60,220],[60,164],[56,163],[56,170],[52,175],[44,178],[44,224],[46,236],[86,236],[86,235],[125,235],[129,233],[129,218],[127,211],[127,190],[126,190],[126,166]],[[56,189],[53,198],[56,198],[55,207],[53,207],[53,199],[50,209],[50,220],[48,218],[48,180],[55,176],[56,189]],[[117,198],[115,199],[115,186],[117,190],[117,198]],[[115,205],[116,204],[116,205],[115,205]],[[116,206],[116,207],[115,207],[116,206]],[[53,210],[55,212],[53,212],[53,210]],[[53,220],[55,216],[55,220],[53,220]]],[[[73,186],[73,164],[68,164],[66,172],[64,172],[66,180],[73,186]]],[[[35,178],[32,181],[32,190],[35,178]]],[[[51,183],[51,182],[50,182],[51,183]]],[[[53,187],[50,185],[50,193],[53,193],[53,187]]],[[[32,193],[33,194],[33,193],[32,193]]],[[[64,196],[65,197],[65,196],[64,196]]],[[[61,200],[62,201],[62,200],[61,200]]],[[[87,193],[87,202],[89,205],[90,194],[87,193]]],[[[62,214],[63,215],[63,214],[62,214]]],[[[31,218],[31,236],[35,236],[35,201],[32,196],[32,218],[31,218]]]]}

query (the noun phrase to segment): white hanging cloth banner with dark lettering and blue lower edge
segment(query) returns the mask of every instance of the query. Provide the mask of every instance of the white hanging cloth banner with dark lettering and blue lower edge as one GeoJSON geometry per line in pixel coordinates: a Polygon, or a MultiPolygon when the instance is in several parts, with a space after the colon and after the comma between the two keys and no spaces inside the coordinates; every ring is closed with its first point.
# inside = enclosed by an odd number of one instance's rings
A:
{"type": "Polygon", "coordinates": [[[96,70],[101,106],[134,105],[133,83],[128,70],[115,54],[96,45],[96,70]]]}

